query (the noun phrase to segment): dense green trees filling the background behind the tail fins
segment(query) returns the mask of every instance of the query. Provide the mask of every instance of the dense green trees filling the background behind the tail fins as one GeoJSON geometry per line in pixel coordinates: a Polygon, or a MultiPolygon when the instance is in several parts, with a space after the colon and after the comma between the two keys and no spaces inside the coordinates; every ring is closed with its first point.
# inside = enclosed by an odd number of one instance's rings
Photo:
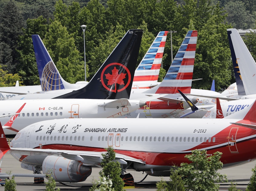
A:
{"type": "Polygon", "coordinates": [[[0,65],[9,74],[18,74],[24,85],[39,84],[31,39],[39,34],[62,77],[70,83],[84,80],[80,25],[85,24],[87,80],[132,28],[144,30],[138,63],[160,30],[177,31],[172,33],[172,47],[170,33],[167,36],[162,63],[166,71],[171,48],[174,57],[187,31],[198,30],[193,78],[203,80],[192,87],[210,89],[214,79],[219,91],[234,82],[226,29],[253,28],[254,1],[0,0],[0,65]]]}

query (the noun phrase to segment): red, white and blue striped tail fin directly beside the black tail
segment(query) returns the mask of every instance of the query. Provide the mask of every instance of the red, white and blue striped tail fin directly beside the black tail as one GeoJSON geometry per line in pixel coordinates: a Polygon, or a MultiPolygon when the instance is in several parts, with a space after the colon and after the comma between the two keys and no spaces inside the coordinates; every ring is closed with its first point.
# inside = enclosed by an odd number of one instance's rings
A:
{"type": "Polygon", "coordinates": [[[160,31],[135,70],[132,88],[151,88],[157,82],[168,31],[160,31]]]}

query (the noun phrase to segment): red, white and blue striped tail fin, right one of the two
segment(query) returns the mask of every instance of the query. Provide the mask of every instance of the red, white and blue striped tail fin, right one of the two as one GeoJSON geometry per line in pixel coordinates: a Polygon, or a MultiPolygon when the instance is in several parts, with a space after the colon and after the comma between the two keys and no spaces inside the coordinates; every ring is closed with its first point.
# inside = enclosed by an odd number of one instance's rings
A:
{"type": "Polygon", "coordinates": [[[190,30],[185,36],[163,81],[144,93],[190,93],[195,62],[197,31],[190,30]]]}

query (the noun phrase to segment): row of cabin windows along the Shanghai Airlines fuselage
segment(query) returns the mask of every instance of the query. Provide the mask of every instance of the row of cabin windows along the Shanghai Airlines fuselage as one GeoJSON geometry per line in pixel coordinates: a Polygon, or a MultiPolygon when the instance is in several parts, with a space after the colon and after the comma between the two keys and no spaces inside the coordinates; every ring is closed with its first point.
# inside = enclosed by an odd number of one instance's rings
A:
{"type": "MultiPolygon", "coordinates": [[[[117,136],[117,141],[119,141],[119,136],[117,136]]],[[[72,140],[74,140],[74,141],[80,141],[80,140],[82,140],[82,141],[84,141],[84,136],[37,136],[36,137],[36,140],[38,141],[38,140],[54,140],[54,141],[56,141],[56,140],[58,140],[58,141],[60,141],[60,140],[62,140],[62,141],[68,141],[68,140],[70,140],[70,141],[72,141],[72,140]],[[81,139],[82,138],[82,139],[81,139]]],[[[93,140],[93,136],[90,136],[90,141],[92,141],[93,140]]],[[[98,141],[108,141],[108,136],[98,136],[98,141]]],[[[167,142],[207,142],[207,140],[208,140],[208,142],[215,142],[215,137],[209,137],[209,138],[207,138],[207,137],[178,137],[178,136],[176,136],[176,137],[165,137],[165,136],[163,136],[163,137],[161,137],[161,136],[159,136],[159,137],[156,137],[156,136],[154,136],[154,137],[152,137],[152,136],[150,136],[150,137],[148,137],[148,136],[146,136],[145,137],[145,139],[144,139],[144,136],[142,136],[142,137],[140,137],[140,136],[138,136],[138,137],[136,137],[136,136],[130,136],[130,137],[128,137],[128,136],[126,136],[125,137],[125,141],[162,141],[162,142],[164,142],[164,141],[167,141],[167,142]]],[[[112,141],[112,136],[110,136],[109,137],[109,141],[112,141]]],[[[121,141],[124,141],[124,136],[121,136],[121,141]]]]}

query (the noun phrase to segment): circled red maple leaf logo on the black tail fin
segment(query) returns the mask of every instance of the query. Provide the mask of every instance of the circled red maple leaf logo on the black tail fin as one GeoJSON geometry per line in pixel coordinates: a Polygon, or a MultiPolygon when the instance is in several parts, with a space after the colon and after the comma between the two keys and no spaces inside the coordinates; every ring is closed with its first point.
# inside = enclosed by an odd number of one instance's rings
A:
{"type": "Polygon", "coordinates": [[[101,79],[103,79],[103,76],[105,76],[104,78],[106,80],[108,80],[107,84],[104,83],[104,80],[101,80],[101,83],[102,85],[108,90],[108,91],[111,91],[111,92],[121,92],[123,91],[124,89],[126,89],[130,82],[131,82],[131,73],[130,71],[128,70],[128,68],[126,68],[123,64],[120,64],[120,63],[117,63],[117,62],[114,62],[114,63],[110,63],[108,64],[103,70],[102,70],[102,73],[101,73],[101,79]],[[121,72],[120,74],[118,73],[120,70],[117,69],[116,66],[114,66],[113,69],[111,69],[111,72],[112,74],[110,73],[107,73],[107,74],[104,74],[104,72],[106,71],[106,69],[108,67],[111,67],[113,65],[117,65],[117,66],[120,66],[121,68],[123,68],[127,73],[123,73],[121,72]],[[126,75],[127,74],[127,75],[126,75]],[[127,83],[125,84],[125,81],[124,79],[126,79],[128,76],[128,81],[127,83]],[[124,85],[124,87],[122,87],[121,89],[117,89],[117,85],[116,84],[119,84],[119,85],[124,85]],[[115,89],[112,89],[113,86],[112,85],[115,85],[114,88],[115,89]],[[107,87],[107,86],[112,86],[111,87],[107,87]]]}

